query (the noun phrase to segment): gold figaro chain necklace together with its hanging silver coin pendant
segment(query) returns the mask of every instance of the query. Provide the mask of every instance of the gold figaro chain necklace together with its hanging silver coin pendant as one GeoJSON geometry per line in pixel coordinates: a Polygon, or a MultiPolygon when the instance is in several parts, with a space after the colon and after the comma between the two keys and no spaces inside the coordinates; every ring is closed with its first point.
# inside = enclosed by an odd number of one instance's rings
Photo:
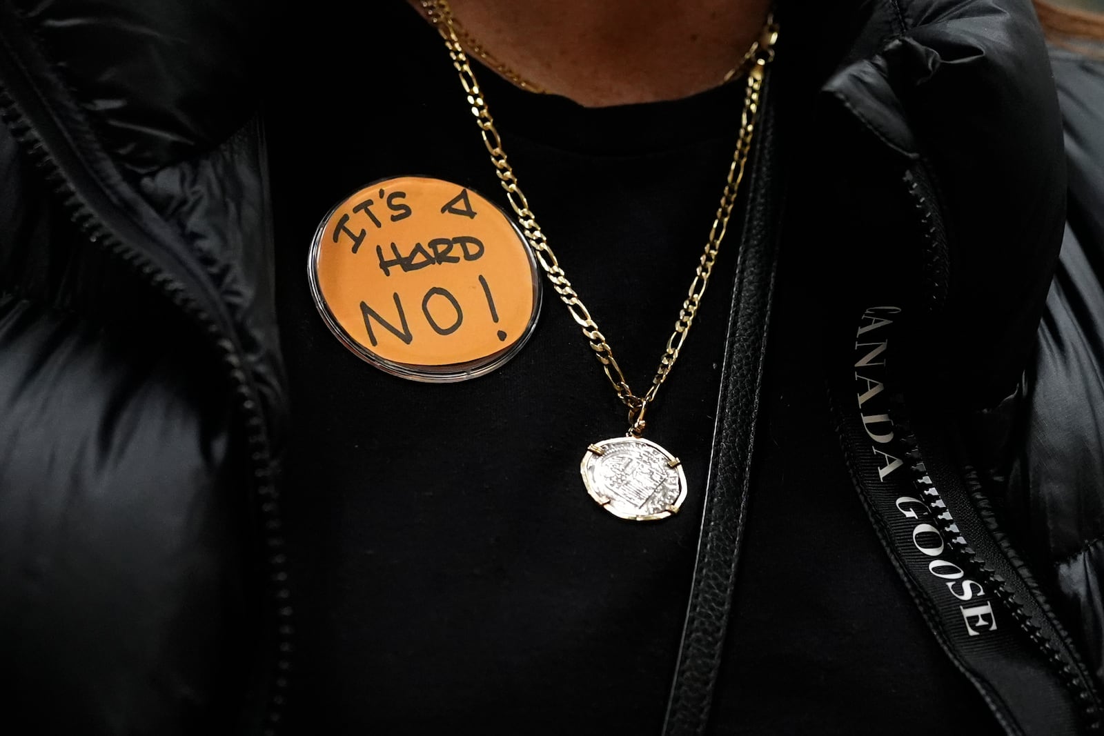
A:
{"type": "Polygon", "coordinates": [[[513,168],[502,149],[502,140],[495,127],[495,119],[491,117],[482,90],[464,52],[464,45],[457,35],[447,0],[421,0],[421,2],[426,15],[445,40],[453,66],[459,74],[460,84],[467,95],[471,115],[476,119],[484,145],[490,154],[491,164],[495,167],[502,189],[506,190],[510,206],[518,216],[521,231],[535,253],[538,264],[544,270],[560,299],[566,305],[572,318],[582,328],[583,335],[590,342],[591,349],[602,364],[614,391],[617,392],[617,397],[628,407],[629,429],[625,437],[605,439],[587,447],[581,466],[586,490],[607,511],[623,519],[634,521],[666,519],[677,513],[686,500],[686,476],[678,458],[656,442],[641,437],[646,426],[644,417],[648,405],[655,401],[659,387],[667,380],[679,358],[679,352],[682,350],[690,327],[693,324],[694,316],[701,305],[705,286],[709,284],[713,264],[716,262],[716,254],[728,230],[732,209],[736,203],[740,182],[747,163],[755,118],[758,113],[760,92],[763,87],[766,65],[774,58],[774,44],[778,38],[778,28],[773,18],[768,17],[760,40],[749,51],[747,57],[752,60],[752,64],[747,71],[740,134],[736,138],[732,162],[729,164],[716,215],[710,227],[705,248],[699,258],[698,267],[694,269],[688,296],[682,302],[678,320],[675,322],[675,331],[667,339],[667,345],[659,361],[659,367],[651,380],[651,385],[640,396],[629,387],[625,374],[614,358],[613,349],[606,342],[606,338],[602,334],[594,318],[591,317],[590,310],[583,305],[578,294],[572,287],[567,275],[549,246],[548,238],[540,225],[537,224],[535,215],[529,207],[529,200],[521,191],[513,168]]]}

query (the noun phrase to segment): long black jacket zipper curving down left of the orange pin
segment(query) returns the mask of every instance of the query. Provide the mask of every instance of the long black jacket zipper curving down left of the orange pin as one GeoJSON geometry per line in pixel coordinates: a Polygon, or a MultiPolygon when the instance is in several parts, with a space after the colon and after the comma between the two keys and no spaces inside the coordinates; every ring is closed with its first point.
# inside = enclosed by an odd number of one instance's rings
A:
{"type": "MultiPolygon", "coordinates": [[[[2,41],[2,39],[0,39],[2,41]]],[[[9,79],[12,66],[11,57],[4,55],[6,49],[0,46],[0,79],[9,79]],[[7,63],[6,63],[7,62],[7,63]],[[9,65],[10,64],[10,65],[9,65]],[[8,68],[4,68],[8,66],[8,68]]],[[[263,714],[264,736],[275,736],[277,725],[283,717],[285,694],[288,687],[290,670],[290,652],[294,628],[291,623],[290,589],[287,584],[288,563],[283,535],[283,520],[279,511],[278,494],[275,486],[272,451],[265,418],[261,408],[259,395],[247,366],[242,360],[242,350],[236,341],[230,319],[221,310],[203,307],[197,298],[197,291],[205,289],[190,287],[181,278],[169,274],[156,264],[140,249],[128,245],[113,228],[108,221],[115,213],[116,205],[106,192],[77,192],[66,178],[62,167],[51,153],[46,145],[49,138],[44,131],[36,129],[19,107],[9,89],[0,85],[0,118],[8,125],[13,138],[23,147],[34,167],[41,171],[46,183],[55,194],[62,198],[63,207],[70,220],[88,241],[99,247],[112,258],[118,259],[127,269],[153,287],[169,299],[170,303],[180,309],[190,320],[202,329],[205,339],[214,346],[222,359],[226,376],[231,381],[236,399],[236,413],[240,417],[240,430],[246,438],[246,451],[252,477],[254,503],[262,524],[267,588],[272,602],[275,605],[275,626],[273,639],[275,646],[274,673],[270,675],[268,694],[263,714]],[[96,202],[93,207],[82,196],[96,202]],[[220,319],[221,318],[221,319],[220,319]]],[[[64,143],[63,143],[64,145],[64,143]]],[[[79,157],[79,152],[74,151],[79,157]]],[[[120,215],[121,216],[121,215],[120,215]]],[[[209,290],[209,289],[206,289],[209,290]]]]}

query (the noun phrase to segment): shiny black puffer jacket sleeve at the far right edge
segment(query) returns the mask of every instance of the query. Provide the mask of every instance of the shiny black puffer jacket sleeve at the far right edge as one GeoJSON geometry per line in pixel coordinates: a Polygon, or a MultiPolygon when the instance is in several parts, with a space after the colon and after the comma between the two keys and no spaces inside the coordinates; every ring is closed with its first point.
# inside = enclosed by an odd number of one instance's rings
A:
{"type": "Polygon", "coordinates": [[[1052,54],[1069,216],[1028,370],[1009,498],[1104,686],[1104,62],[1052,54]]]}

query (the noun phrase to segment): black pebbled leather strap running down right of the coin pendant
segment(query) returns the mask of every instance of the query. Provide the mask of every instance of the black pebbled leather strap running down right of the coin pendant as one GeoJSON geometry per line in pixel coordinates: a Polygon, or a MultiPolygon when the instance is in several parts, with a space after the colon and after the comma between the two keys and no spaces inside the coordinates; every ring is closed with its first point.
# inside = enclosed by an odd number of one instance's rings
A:
{"type": "Polygon", "coordinates": [[[771,72],[763,84],[753,141],[743,237],[725,342],[718,424],[705,490],[690,604],[665,736],[701,734],[709,721],[732,607],[736,562],[747,513],[747,487],[758,416],[767,326],[777,263],[779,168],[774,164],[775,111],[771,72]]]}

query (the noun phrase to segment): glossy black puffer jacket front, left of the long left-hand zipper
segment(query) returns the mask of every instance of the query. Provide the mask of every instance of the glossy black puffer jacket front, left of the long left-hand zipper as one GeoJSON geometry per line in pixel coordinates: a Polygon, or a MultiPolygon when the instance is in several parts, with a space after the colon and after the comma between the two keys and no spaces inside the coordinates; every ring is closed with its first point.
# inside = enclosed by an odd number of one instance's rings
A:
{"type": "Polygon", "coordinates": [[[6,726],[222,733],[248,647],[229,402],[171,321],[73,296],[110,276],[3,126],[0,173],[6,726]]]}

